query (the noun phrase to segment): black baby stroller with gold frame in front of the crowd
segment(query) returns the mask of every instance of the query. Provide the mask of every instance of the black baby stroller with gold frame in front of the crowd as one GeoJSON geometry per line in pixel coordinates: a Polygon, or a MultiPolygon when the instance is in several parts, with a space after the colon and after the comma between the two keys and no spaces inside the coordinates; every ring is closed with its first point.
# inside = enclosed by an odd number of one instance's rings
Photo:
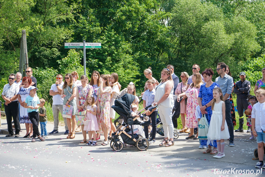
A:
{"type": "MultiPolygon", "coordinates": [[[[149,147],[149,141],[137,135],[138,129],[133,129],[132,125],[145,126],[150,124],[150,120],[147,122],[141,122],[137,118],[131,115],[130,106],[135,99],[134,95],[125,94],[121,98],[116,99],[112,108],[123,118],[123,123],[117,128],[117,130],[111,134],[110,146],[115,151],[121,151],[123,149],[123,143],[120,141],[119,136],[121,136],[124,143],[136,146],[138,150],[145,151],[149,147]]],[[[151,107],[148,106],[148,107],[151,107]]],[[[156,106],[151,107],[149,110],[143,112],[142,114],[152,111],[156,106]]],[[[147,108],[146,108],[147,109],[147,108]]]]}

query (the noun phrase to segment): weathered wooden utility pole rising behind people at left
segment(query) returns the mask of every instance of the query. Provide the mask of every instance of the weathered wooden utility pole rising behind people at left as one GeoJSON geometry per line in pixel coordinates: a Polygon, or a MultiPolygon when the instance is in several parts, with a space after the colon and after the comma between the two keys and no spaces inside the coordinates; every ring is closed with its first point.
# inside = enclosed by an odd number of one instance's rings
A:
{"type": "Polygon", "coordinates": [[[29,59],[28,59],[26,30],[22,30],[20,57],[19,57],[19,72],[22,74],[22,78],[25,75],[24,70],[26,70],[28,67],[29,67],[29,59]]]}

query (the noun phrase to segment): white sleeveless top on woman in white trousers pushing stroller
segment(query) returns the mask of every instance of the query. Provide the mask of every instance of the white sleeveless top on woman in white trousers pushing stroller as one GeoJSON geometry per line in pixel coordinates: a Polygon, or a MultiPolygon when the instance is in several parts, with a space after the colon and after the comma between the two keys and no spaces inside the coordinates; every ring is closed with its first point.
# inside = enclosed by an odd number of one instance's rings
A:
{"type": "MultiPolygon", "coordinates": [[[[165,86],[167,82],[170,82],[170,81],[166,81],[162,84],[160,83],[158,86],[155,87],[156,91],[155,91],[155,96],[154,96],[154,102],[158,102],[162,98],[162,96],[165,94],[165,86]]],[[[174,86],[172,87],[167,99],[163,101],[162,103],[160,103],[158,106],[161,105],[164,107],[174,107],[173,90],[174,90],[174,86]]]]}

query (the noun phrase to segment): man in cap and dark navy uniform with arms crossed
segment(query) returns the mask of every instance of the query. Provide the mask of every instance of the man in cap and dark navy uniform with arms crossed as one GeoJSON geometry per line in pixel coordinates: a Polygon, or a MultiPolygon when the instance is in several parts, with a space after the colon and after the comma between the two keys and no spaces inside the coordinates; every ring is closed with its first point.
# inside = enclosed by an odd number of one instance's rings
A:
{"type": "MultiPolygon", "coordinates": [[[[234,93],[237,95],[236,106],[239,114],[239,128],[235,132],[243,132],[244,110],[247,110],[248,107],[248,96],[250,95],[250,82],[246,80],[246,73],[240,72],[239,74],[240,81],[236,82],[234,93]]],[[[248,117],[248,116],[247,116],[248,117]]],[[[250,133],[250,127],[247,130],[247,133],[250,133]]]]}

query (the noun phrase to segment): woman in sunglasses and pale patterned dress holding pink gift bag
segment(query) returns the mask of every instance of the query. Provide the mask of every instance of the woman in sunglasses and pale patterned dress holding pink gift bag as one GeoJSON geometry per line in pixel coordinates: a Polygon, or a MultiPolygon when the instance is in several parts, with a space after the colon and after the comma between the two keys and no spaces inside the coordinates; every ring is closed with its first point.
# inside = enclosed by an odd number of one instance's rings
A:
{"type": "Polygon", "coordinates": [[[73,78],[70,73],[65,74],[64,76],[64,85],[61,93],[61,97],[64,99],[63,105],[71,105],[73,107],[72,118],[67,119],[67,126],[69,134],[66,137],[67,139],[75,138],[75,129],[76,129],[76,84],[73,83],[73,78]]]}

